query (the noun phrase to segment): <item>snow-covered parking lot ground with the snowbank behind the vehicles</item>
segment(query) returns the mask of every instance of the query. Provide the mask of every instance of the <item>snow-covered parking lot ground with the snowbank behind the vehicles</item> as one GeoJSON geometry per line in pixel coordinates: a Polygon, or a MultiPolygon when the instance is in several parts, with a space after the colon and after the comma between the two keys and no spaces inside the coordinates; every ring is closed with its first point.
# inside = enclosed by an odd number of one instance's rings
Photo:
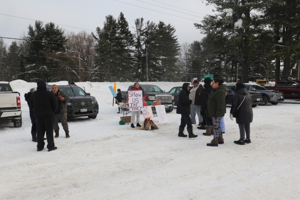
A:
{"type": "MultiPolygon", "coordinates": [[[[239,130],[227,107],[225,143],[207,147],[212,136],[196,126],[197,138],[177,137],[176,109],[168,123],[156,122],[158,130],[133,129],[118,124],[113,83],[77,83],[97,98],[98,117],[71,119],[70,138],[62,132],[57,150],[37,152],[24,99],[36,83],[11,83],[21,93],[23,124],[0,123],[0,199],[300,199],[298,100],[253,108],[252,143],[245,145],[233,143],[239,130]]],[[[182,85],[153,84],[166,91],[182,85]]]]}

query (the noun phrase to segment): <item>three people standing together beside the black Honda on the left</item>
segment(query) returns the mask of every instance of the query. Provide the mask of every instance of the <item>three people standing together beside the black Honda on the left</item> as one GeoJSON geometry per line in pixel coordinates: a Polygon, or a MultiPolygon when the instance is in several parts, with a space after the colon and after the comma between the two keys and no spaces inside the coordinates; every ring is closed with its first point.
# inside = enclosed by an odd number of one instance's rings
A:
{"type": "Polygon", "coordinates": [[[57,85],[52,85],[52,92],[47,90],[44,80],[37,81],[37,88],[31,88],[29,93],[24,95],[29,107],[31,119],[32,141],[37,142],[37,151],[42,151],[45,146],[44,139],[47,138],[48,151],[56,150],[53,138],[59,137],[59,121],[66,134],[70,138],[67,122],[67,105],[69,97],[59,90],[57,85]],[[46,138],[44,138],[46,132],[46,138]]]}

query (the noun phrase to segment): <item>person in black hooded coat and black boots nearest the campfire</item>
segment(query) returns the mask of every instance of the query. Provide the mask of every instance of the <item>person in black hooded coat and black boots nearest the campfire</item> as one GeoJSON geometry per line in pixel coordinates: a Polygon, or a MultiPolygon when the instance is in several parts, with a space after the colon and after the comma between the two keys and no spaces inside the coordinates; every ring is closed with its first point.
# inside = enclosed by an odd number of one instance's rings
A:
{"type": "Polygon", "coordinates": [[[181,114],[181,122],[179,126],[179,133],[178,137],[187,137],[183,133],[184,127],[187,125],[187,133],[189,138],[196,138],[197,135],[193,134],[193,126],[192,126],[192,120],[190,117],[191,108],[190,105],[192,104],[192,100],[189,99],[190,94],[190,83],[183,83],[182,90],[179,93],[178,96],[178,104],[176,113],[181,114]]]}

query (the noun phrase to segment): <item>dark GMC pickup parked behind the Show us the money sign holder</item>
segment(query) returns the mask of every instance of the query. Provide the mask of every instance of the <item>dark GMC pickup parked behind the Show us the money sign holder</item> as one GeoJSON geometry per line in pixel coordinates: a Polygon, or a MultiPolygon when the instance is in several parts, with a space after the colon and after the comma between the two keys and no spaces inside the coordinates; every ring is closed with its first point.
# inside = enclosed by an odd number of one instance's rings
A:
{"type": "MultiPolygon", "coordinates": [[[[165,106],[165,110],[167,113],[173,111],[174,96],[171,93],[163,91],[156,85],[140,85],[140,87],[143,88],[145,92],[146,101],[155,101],[159,99],[161,101],[161,104],[165,106]]],[[[133,85],[129,86],[127,91],[121,91],[124,101],[127,101],[127,94],[131,88],[133,88],[133,85]]]]}

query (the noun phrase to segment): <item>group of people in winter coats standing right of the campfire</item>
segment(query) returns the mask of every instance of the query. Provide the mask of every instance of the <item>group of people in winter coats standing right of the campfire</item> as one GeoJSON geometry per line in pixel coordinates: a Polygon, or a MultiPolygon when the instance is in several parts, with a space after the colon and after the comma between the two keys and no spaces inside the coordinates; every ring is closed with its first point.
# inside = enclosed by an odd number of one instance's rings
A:
{"type": "MultiPolygon", "coordinates": [[[[203,135],[213,135],[212,141],[207,143],[207,146],[217,147],[218,144],[224,143],[223,133],[225,132],[225,126],[223,117],[226,113],[225,98],[227,93],[223,82],[222,78],[214,78],[213,80],[205,78],[204,86],[202,86],[197,80],[194,80],[191,91],[190,83],[183,83],[176,111],[176,113],[181,114],[178,137],[187,137],[183,133],[186,126],[188,137],[197,137],[197,135],[193,134],[192,129],[192,124],[196,124],[195,116],[197,114],[199,126],[206,124],[206,133],[203,133],[203,135]]],[[[240,129],[240,139],[234,141],[234,143],[239,145],[251,143],[252,97],[243,83],[236,84],[231,105],[230,119],[236,118],[236,123],[240,129]]],[[[201,129],[201,126],[198,128],[201,129]]]]}

